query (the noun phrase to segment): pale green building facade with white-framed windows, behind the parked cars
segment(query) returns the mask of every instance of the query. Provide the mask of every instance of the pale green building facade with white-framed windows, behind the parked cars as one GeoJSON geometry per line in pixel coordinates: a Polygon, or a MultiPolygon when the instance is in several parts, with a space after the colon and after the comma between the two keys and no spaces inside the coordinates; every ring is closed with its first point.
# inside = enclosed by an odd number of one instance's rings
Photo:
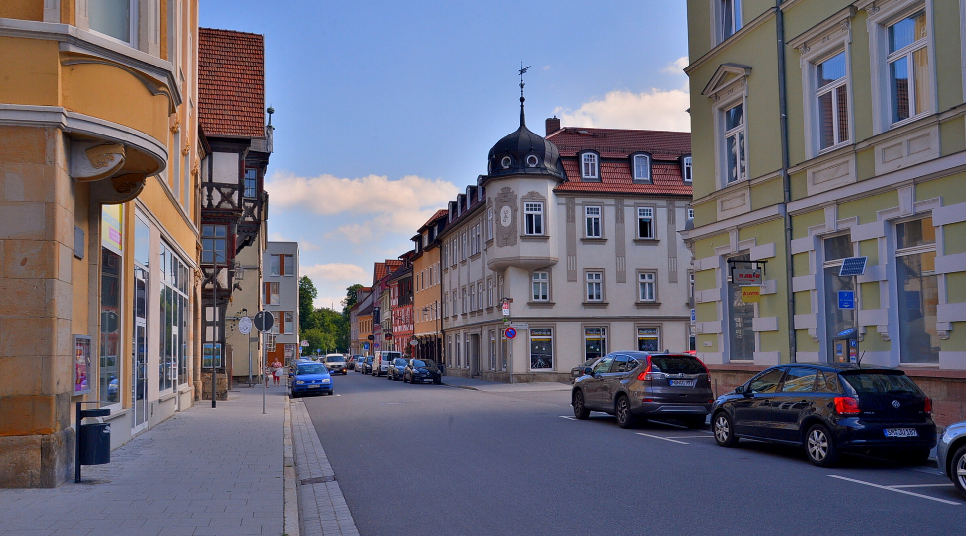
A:
{"type": "Polygon", "coordinates": [[[904,369],[937,422],[966,416],[964,17],[939,0],[689,0],[684,235],[697,354],[723,389],[861,358],[904,369]],[[854,257],[863,274],[841,276],[854,257]],[[856,354],[836,340],[850,327],[856,354]]]}

